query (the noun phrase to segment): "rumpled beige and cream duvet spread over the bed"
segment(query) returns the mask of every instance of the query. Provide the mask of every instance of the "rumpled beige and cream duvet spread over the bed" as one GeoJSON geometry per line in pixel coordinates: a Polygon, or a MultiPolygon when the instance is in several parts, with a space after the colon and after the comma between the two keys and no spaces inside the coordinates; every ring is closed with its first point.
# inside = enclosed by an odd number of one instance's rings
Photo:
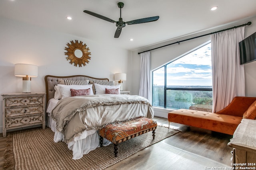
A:
{"type": "Polygon", "coordinates": [[[107,123],[154,116],[150,102],[141,96],[101,94],[60,100],[52,110],[56,131],[69,143],[83,131],[100,129],[107,123]]]}

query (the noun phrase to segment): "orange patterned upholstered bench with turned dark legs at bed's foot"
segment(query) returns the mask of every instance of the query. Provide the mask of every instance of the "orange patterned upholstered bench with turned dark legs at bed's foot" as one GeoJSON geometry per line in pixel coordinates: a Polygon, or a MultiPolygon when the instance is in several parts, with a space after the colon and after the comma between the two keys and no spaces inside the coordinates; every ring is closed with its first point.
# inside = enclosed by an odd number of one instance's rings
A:
{"type": "Polygon", "coordinates": [[[118,143],[132,139],[149,131],[152,131],[154,140],[156,127],[156,121],[146,117],[106,124],[98,131],[100,135],[100,147],[103,145],[103,138],[107,139],[114,144],[114,154],[115,157],[117,157],[118,143]]]}

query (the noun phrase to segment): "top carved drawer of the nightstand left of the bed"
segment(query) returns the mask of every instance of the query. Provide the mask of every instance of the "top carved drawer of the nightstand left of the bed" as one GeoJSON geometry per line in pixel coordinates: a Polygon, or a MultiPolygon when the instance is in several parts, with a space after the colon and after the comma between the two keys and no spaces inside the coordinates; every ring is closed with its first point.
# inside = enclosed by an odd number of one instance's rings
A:
{"type": "Polygon", "coordinates": [[[26,96],[16,98],[6,98],[5,107],[24,106],[32,104],[43,104],[43,96],[26,96]]]}

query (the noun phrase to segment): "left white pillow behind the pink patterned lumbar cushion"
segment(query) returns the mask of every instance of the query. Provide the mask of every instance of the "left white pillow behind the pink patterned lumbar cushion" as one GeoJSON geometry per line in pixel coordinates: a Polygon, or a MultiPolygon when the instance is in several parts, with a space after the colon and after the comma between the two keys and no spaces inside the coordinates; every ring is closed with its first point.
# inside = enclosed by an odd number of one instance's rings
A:
{"type": "Polygon", "coordinates": [[[90,88],[90,94],[93,94],[92,91],[92,84],[88,85],[64,85],[64,84],[58,84],[60,86],[60,91],[63,98],[71,97],[70,88],[75,90],[81,90],[81,89],[88,89],[90,88]]]}

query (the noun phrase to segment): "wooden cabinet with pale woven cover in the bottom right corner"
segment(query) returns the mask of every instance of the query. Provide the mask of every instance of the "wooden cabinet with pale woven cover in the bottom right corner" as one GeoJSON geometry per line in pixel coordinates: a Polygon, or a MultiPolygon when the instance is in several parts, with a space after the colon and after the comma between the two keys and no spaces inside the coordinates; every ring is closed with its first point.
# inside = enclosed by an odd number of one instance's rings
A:
{"type": "Polygon", "coordinates": [[[228,146],[233,148],[233,167],[256,168],[256,120],[242,119],[228,146]]]}

